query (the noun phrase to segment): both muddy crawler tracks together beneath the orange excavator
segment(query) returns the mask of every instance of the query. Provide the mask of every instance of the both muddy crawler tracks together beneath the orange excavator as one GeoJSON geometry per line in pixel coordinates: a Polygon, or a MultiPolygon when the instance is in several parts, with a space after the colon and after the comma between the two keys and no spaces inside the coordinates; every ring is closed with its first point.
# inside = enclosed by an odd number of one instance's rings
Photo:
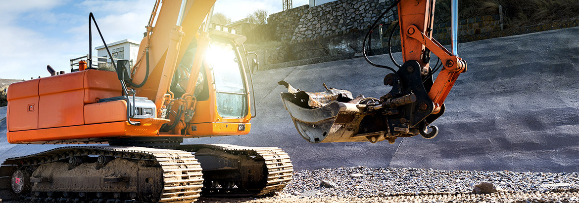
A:
{"type": "Polygon", "coordinates": [[[292,180],[290,157],[279,148],[222,144],[175,148],[67,146],[9,158],[0,166],[0,198],[30,202],[193,202],[201,194],[261,196],[282,190],[292,180]],[[210,167],[202,169],[204,164],[210,167]],[[99,176],[107,167],[113,168],[113,175],[99,176]],[[77,168],[85,171],[70,175],[77,168]],[[15,175],[17,171],[30,178],[15,175]],[[131,171],[137,173],[130,175],[131,171]],[[129,175],[118,175],[123,173],[129,175]],[[15,186],[14,177],[30,185],[15,186]],[[83,187],[84,183],[96,184],[83,187]],[[14,192],[19,186],[25,189],[14,192]]]}

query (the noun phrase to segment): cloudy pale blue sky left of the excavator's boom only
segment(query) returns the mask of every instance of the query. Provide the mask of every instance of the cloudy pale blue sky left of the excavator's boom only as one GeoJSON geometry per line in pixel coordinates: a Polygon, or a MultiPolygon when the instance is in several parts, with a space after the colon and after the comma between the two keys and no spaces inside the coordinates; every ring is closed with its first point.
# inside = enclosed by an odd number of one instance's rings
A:
{"type": "MultiPolygon", "coordinates": [[[[79,12],[74,12],[74,9],[70,13],[55,13],[50,9],[58,6],[56,1],[22,2],[24,3],[10,2],[7,7],[2,5],[0,8],[2,10],[0,17],[9,16],[3,19],[2,29],[0,29],[0,39],[5,39],[0,41],[0,78],[44,77],[48,75],[46,65],[68,72],[69,59],[88,54],[87,15],[78,14],[79,12]],[[30,6],[26,6],[26,2],[30,6]],[[25,23],[27,20],[36,20],[46,25],[45,27],[31,27],[25,23]],[[79,25],[79,23],[82,24],[79,25]],[[51,32],[37,31],[46,29],[51,32]]],[[[96,12],[97,22],[105,40],[111,43],[127,38],[136,38],[135,40],[139,41],[142,32],[145,31],[144,26],[151,14],[149,9],[152,8],[154,1],[120,1],[117,6],[123,6],[122,9],[111,10],[107,8],[115,2],[87,1],[83,3],[78,6],[91,6],[93,3],[93,8],[86,7],[86,10],[92,9],[96,12]],[[134,5],[129,6],[129,3],[134,5]],[[149,8],[145,10],[144,5],[148,5],[146,7],[149,8]]],[[[61,10],[68,11],[69,9],[61,10]]],[[[93,47],[96,47],[102,43],[100,43],[96,29],[93,28],[93,31],[93,47]]]]}

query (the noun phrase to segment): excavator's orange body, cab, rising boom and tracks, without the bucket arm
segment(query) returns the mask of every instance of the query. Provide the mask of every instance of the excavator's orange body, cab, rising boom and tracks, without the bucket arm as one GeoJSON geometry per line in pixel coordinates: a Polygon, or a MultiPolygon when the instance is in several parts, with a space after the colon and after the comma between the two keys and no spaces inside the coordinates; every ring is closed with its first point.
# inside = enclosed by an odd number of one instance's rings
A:
{"type": "Polygon", "coordinates": [[[193,202],[201,193],[257,196],[283,189],[293,168],[281,149],[181,145],[183,138],[251,129],[252,85],[246,73],[256,61],[244,50],[245,36],[210,24],[214,3],[157,0],[135,65],[112,60],[115,72],[99,70],[91,61],[93,22],[102,39],[91,13],[86,63],[65,74],[48,67],[50,77],[10,85],[10,143],[109,145],[6,159],[0,197],[193,202]]]}

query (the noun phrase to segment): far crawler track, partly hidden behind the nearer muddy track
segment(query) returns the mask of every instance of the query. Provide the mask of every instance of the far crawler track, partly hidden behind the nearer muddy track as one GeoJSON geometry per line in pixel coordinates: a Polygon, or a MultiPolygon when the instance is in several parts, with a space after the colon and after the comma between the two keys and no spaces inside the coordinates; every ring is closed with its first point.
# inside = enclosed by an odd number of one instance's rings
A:
{"type": "MultiPolygon", "coordinates": [[[[252,182],[251,189],[244,187],[221,187],[217,185],[204,185],[203,196],[208,197],[243,197],[243,196],[261,196],[263,194],[281,191],[285,185],[291,182],[292,172],[294,166],[291,163],[290,156],[280,148],[275,147],[248,147],[236,146],[228,144],[203,144],[203,145],[180,145],[179,149],[183,151],[196,152],[195,156],[200,157],[201,166],[204,167],[203,159],[200,152],[202,149],[207,152],[210,151],[225,152],[229,155],[251,157],[252,161],[259,163],[258,166],[263,167],[263,176],[259,177],[258,181],[252,182]],[[261,165],[260,165],[261,164],[261,165]]],[[[220,161],[222,162],[222,161],[220,161]]],[[[241,161],[243,163],[243,160],[241,161]]],[[[255,167],[247,167],[247,170],[254,170],[255,167]]],[[[239,171],[243,174],[243,167],[239,171]]],[[[259,174],[255,174],[259,176],[259,174]]],[[[255,177],[254,177],[255,178],[255,177]]],[[[212,181],[210,177],[204,176],[207,182],[212,181]]],[[[250,178],[251,179],[251,178],[250,178]]],[[[243,184],[241,184],[243,185],[243,184]]]]}

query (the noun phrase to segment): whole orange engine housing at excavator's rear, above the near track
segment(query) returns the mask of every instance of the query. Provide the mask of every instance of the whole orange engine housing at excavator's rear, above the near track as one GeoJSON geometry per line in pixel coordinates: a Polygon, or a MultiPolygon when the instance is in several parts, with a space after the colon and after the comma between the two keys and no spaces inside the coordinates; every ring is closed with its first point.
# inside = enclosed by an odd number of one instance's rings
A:
{"type": "MultiPolygon", "coordinates": [[[[127,132],[124,129],[124,101],[117,101],[120,105],[88,104],[96,103],[98,99],[120,96],[120,82],[115,72],[84,70],[16,82],[8,89],[10,142],[60,141],[68,140],[69,137],[78,140],[123,136],[127,132]],[[89,110],[88,114],[85,114],[85,108],[89,110]],[[85,129],[85,118],[89,123],[121,121],[123,127],[122,130],[94,130],[94,126],[87,125],[85,129]],[[74,127],[62,128],[64,126],[74,127]]],[[[157,129],[153,131],[145,130],[142,133],[141,130],[130,134],[158,133],[157,129]]]]}

